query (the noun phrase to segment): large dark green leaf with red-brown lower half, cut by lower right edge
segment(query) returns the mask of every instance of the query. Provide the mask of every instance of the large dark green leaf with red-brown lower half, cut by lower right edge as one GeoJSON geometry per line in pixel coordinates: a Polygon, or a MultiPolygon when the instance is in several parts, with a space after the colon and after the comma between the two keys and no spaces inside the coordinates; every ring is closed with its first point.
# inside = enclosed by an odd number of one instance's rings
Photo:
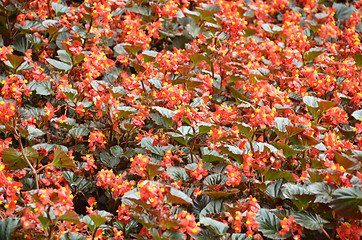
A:
{"type": "Polygon", "coordinates": [[[362,189],[353,186],[335,190],[332,195],[331,207],[342,217],[362,219],[362,189]]]}

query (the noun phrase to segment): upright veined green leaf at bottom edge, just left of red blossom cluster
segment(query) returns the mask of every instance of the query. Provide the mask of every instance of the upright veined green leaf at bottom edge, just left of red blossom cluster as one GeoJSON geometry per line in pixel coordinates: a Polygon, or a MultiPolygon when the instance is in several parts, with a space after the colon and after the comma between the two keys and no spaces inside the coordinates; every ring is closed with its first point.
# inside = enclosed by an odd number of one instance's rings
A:
{"type": "Polygon", "coordinates": [[[271,213],[268,209],[261,208],[258,211],[256,222],[259,224],[259,231],[263,233],[265,237],[271,239],[285,239],[288,235],[280,236],[279,231],[282,229],[280,221],[277,216],[271,213]]]}

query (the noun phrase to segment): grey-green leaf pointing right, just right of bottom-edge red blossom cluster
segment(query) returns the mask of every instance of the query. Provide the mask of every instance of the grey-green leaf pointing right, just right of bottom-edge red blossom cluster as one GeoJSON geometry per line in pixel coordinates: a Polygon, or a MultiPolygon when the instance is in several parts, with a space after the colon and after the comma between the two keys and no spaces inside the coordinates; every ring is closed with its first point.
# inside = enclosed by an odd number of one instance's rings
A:
{"type": "Polygon", "coordinates": [[[294,213],[292,216],[299,225],[309,230],[321,229],[325,223],[329,223],[318,214],[306,211],[294,213]]]}

